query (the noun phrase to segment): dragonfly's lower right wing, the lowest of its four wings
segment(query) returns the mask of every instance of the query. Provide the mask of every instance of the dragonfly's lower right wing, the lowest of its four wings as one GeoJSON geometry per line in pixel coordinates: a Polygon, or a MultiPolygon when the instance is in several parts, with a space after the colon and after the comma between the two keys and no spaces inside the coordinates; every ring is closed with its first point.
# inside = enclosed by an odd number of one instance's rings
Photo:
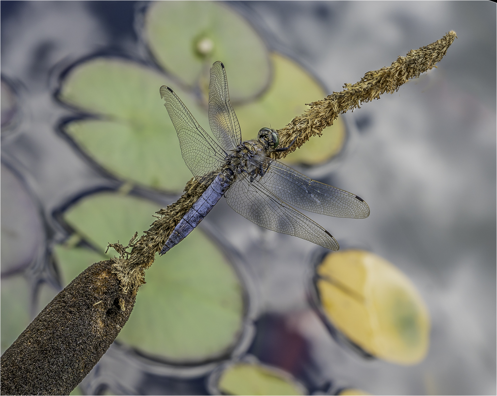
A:
{"type": "Polygon", "coordinates": [[[238,175],[224,195],[236,212],[269,230],[338,250],[338,242],[327,230],[276,197],[263,183],[250,179],[248,174],[238,175]]]}

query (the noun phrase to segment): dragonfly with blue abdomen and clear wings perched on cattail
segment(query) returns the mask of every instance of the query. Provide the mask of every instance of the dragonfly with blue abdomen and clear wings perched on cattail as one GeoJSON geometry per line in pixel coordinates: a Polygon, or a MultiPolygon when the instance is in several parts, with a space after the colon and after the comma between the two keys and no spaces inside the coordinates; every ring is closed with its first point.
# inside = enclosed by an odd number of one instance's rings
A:
{"type": "Polygon", "coordinates": [[[236,212],[259,226],[331,250],[339,249],[335,238],[293,206],[335,217],[369,216],[369,206],[362,198],[312,180],[270,157],[273,152],[288,150],[295,139],[287,147],[278,147],[278,132],[264,127],[256,139],[242,141],[222,62],[215,62],[210,69],[208,118],[212,135],[170,87],[163,85],[160,93],[186,166],[196,180],[208,185],[176,225],[161,255],[182,241],[222,196],[236,212]]]}

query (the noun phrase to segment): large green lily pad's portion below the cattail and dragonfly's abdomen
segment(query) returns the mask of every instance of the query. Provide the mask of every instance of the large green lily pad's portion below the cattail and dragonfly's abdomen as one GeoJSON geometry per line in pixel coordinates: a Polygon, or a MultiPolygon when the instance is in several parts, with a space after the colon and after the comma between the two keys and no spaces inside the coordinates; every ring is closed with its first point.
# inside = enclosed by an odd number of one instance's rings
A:
{"type": "Polygon", "coordinates": [[[199,230],[157,260],[146,279],[119,340],[177,363],[214,359],[235,346],[242,331],[242,286],[199,230]]]}

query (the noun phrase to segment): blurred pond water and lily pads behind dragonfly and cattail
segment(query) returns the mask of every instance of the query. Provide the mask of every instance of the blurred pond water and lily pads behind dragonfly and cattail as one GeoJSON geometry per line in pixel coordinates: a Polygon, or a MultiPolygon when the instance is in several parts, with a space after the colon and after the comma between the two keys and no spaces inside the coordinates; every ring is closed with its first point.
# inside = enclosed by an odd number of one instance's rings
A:
{"type": "Polygon", "coordinates": [[[191,178],[161,85],[208,129],[221,60],[245,140],[454,30],[437,68],[288,156],[369,204],[310,214],[338,253],[221,200],[74,394],[496,393],[495,3],[0,5],[2,353],[191,178]]]}

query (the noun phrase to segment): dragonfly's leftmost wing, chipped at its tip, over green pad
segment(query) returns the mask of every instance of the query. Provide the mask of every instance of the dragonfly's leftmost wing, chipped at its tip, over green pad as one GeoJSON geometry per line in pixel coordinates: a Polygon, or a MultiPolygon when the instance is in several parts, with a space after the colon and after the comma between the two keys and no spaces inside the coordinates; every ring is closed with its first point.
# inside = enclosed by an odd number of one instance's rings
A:
{"type": "Polygon", "coordinates": [[[181,155],[191,173],[200,181],[202,176],[219,170],[225,163],[223,148],[195,121],[189,110],[172,91],[163,85],[161,98],[176,129],[181,155]]]}

